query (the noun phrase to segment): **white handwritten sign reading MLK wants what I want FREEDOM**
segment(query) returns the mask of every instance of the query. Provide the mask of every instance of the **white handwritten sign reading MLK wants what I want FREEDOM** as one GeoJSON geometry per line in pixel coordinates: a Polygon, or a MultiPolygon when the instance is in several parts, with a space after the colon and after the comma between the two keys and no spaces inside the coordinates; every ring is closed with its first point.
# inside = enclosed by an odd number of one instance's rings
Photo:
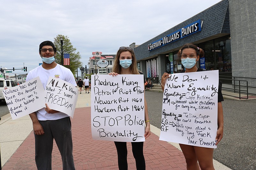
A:
{"type": "Polygon", "coordinates": [[[47,103],[50,109],[58,110],[73,118],[78,98],[78,90],[74,85],[49,77],[44,96],[44,103],[47,103]]]}

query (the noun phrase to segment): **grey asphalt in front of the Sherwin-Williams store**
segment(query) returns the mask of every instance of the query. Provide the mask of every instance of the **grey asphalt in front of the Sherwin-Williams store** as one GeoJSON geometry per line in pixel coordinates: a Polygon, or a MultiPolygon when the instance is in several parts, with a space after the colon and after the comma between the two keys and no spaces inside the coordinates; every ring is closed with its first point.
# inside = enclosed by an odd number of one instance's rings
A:
{"type": "MultiPolygon", "coordinates": [[[[163,93],[146,91],[150,123],[161,127],[163,93]]],[[[256,99],[222,102],[224,134],[214,159],[233,170],[256,170],[256,99]]]]}

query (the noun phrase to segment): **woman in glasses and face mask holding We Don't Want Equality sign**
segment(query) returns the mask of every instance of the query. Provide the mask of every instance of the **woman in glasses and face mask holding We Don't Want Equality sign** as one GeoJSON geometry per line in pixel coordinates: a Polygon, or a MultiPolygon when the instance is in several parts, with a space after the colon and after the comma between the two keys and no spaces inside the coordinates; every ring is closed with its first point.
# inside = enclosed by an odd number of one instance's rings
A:
{"type": "MultiPolygon", "coordinates": [[[[204,56],[204,51],[193,45],[185,44],[178,52],[178,56],[181,57],[181,63],[186,68],[182,73],[198,72],[203,71],[202,68],[196,67],[196,62],[200,57],[204,56]]],[[[168,73],[164,73],[161,79],[162,90],[164,91],[164,84],[166,79],[169,77],[168,73]]],[[[221,141],[223,137],[223,110],[222,110],[222,101],[224,101],[222,96],[222,82],[219,81],[218,89],[218,130],[216,135],[216,145],[221,141]]],[[[184,154],[187,164],[187,170],[214,170],[213,166],[213,148],[192,146],[179,144],[180,148],[184,154]],[[198,165],[199,162],[199,165],[198,165]]]]}

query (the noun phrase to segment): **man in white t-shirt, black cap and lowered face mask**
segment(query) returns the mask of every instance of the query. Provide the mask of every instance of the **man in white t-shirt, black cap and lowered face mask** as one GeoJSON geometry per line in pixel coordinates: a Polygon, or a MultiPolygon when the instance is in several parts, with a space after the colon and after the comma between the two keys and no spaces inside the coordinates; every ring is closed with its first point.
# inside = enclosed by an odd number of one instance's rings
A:
{"type": "MultiPolygon", "coordinates": [[[[44,41],[39,45],[39,54],[43,64],[31,70],[27,74],[26,81],[39,76],[45,89],[49,76],[51,76],[67,81],[74,86],[77,85],[70,69],[54,61],[56,48],[51,41],[44,41]]],[[[29,114],[33,122],[37,169],[51,169],[54,139],[62,157],[63,169],[73,170],[75,165],[70,117],[65,113],[50,109],[47,104],[45,105],[45,108],[29,114]]]]}

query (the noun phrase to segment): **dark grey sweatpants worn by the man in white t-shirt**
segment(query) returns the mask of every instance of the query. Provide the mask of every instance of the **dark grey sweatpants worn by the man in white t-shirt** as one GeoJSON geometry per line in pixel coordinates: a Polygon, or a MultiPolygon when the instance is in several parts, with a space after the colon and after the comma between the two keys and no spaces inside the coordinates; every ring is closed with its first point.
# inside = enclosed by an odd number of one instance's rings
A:
{"type": "Polygon", "coordinates": [[[75,169],[70,117],[58,120],[39,121],[43,135],[35,136],[35,162],[38,170],[50,170],[53,139],[59,148],[63,170],[75,169]]]}

